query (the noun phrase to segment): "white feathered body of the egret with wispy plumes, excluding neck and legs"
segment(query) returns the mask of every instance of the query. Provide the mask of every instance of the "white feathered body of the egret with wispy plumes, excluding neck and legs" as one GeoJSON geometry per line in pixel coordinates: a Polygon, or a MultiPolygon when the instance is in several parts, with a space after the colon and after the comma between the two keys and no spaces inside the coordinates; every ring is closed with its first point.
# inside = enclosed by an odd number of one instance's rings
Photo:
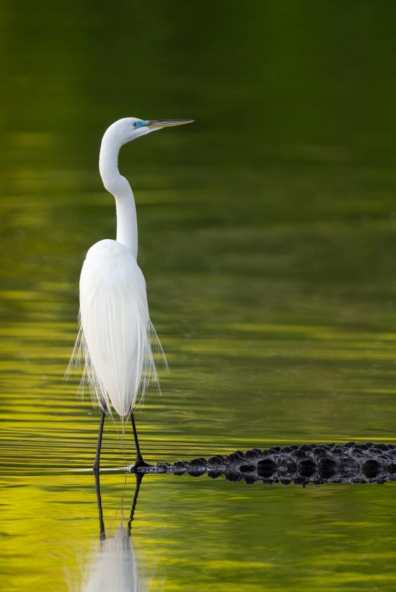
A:
{"type": "Polygon", "coordinates": [[[146,282],[136,259],[117,240],[88,250],[80,279],[84,382],[102,404],[125,417],[136,397],[158,381],[153,350],[161,344],[148,317],[146,282]]]}

